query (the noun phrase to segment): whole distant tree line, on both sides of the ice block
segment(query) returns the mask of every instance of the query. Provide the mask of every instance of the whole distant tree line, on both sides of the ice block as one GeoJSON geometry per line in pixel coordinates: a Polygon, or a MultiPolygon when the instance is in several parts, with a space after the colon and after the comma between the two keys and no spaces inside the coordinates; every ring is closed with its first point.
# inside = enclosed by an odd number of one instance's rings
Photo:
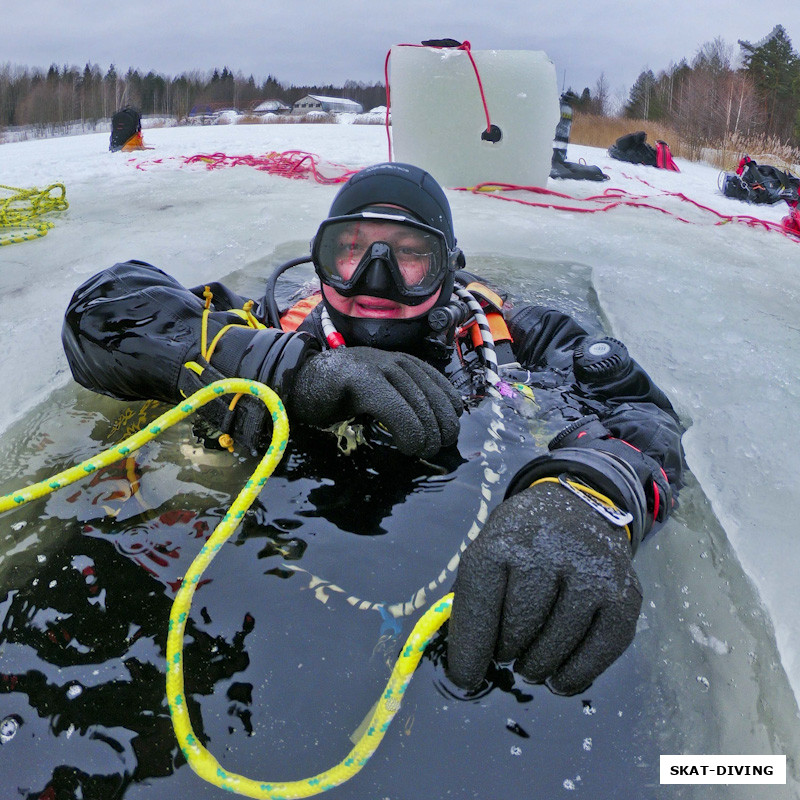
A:
{"type": "MultiPolygon", "coordinates": [[[[766,135],[800,146],[800,56],[786,30],[776,25],[755,44],[734,46],[717,38],[704,44],[691,62],[683,59],[655,74],[636,79],[623,113],[664,122],[690,147],[703,147],[732,135],[766,135]]],[[[97,64],[52,64],[48,70],[0,66],[0,128],[33,125],[58,129],[79,121],[93,127],[115,110],[132,105],[143,114],[181,119],[198,106],[247,111],[263,100],[291,105],[306,94],[347,97],[365,109],[386,102],[383,83],[347,81],[343,86],[286,85],[270,75],[257,83],[252,75],[227,66],[209,73],[184,72],[168,77],[137,69],[103,73],[97,64]]],[[[605,116],[610,92],[604,74],[592,93],[571,92],[578,111],[605,116]]]]}

